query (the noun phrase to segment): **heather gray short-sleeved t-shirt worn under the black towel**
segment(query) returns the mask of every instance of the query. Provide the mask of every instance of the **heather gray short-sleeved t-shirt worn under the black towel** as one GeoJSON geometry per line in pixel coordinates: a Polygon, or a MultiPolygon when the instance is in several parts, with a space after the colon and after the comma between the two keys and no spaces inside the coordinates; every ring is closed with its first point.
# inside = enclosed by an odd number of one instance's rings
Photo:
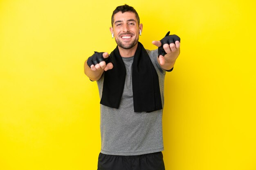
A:
{"type": "MultiPolygon", "coordinates": [[[[159,77],[162,105],[164,106],[164,76],[157,62],[157,50],[147,50],[159,77]]],[[[126,66],[124,92],[119,109],[101,105],[101,153],[108,155],[142,155],[164,150],[162,110],[135,113],[132,97],[133,57],[122,57],[126,66]]],[[[97,81],[100,98],[104,74],[97,81]]]]}

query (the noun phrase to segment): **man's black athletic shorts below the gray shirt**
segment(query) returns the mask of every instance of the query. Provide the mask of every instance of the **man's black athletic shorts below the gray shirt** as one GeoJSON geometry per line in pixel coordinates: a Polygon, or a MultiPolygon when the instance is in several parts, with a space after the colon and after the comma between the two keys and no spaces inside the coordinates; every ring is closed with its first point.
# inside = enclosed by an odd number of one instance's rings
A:
{"type": "Polygon", "coordinates": [[[165,170],[162,152],[135,156],[99,154],[98,170],[165,170]]]}

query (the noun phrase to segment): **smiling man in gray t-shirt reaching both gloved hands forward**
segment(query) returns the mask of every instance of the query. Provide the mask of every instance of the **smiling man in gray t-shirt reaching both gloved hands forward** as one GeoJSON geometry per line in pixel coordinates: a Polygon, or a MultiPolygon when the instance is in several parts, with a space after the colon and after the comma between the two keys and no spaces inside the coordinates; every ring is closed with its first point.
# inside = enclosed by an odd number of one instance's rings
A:
{"type": "Polygon", "coordinates": [[[145,50],[138,41],[139,15],[127,4],[112,14],[117,48],[95,52],[85,74],[101,97],[101,153],[98,170],[164,170],[162,108],[164,76],[180,54],[180,38],[167,35],[145,50]]]}

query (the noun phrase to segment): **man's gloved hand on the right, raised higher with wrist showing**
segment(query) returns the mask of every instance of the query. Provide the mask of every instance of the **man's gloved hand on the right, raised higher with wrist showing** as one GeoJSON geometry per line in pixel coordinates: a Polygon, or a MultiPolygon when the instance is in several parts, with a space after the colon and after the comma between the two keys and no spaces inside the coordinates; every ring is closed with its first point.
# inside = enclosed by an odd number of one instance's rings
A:
{"type": "Polygon", "coordinates": [[[170,31],[160,41],[152,42],[152,44],[158,47],[160,65],[167,65],[166,67],[168,67],[168,64],[174,64],[175,60],[180,54],[180,37],[169,34],[170,31]]]}

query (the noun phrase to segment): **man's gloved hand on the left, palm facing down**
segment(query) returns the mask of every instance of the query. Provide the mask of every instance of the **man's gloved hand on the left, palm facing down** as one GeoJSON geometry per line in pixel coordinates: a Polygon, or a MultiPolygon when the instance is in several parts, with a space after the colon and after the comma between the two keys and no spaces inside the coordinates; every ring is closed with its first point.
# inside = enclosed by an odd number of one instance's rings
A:
{"type": "Polygon", "coordinates": [[[112,59],[108,52],[96,52],[88,58],[87,65],[92,71],[96,70],[110,70],[113,68],[112,59]]]}

